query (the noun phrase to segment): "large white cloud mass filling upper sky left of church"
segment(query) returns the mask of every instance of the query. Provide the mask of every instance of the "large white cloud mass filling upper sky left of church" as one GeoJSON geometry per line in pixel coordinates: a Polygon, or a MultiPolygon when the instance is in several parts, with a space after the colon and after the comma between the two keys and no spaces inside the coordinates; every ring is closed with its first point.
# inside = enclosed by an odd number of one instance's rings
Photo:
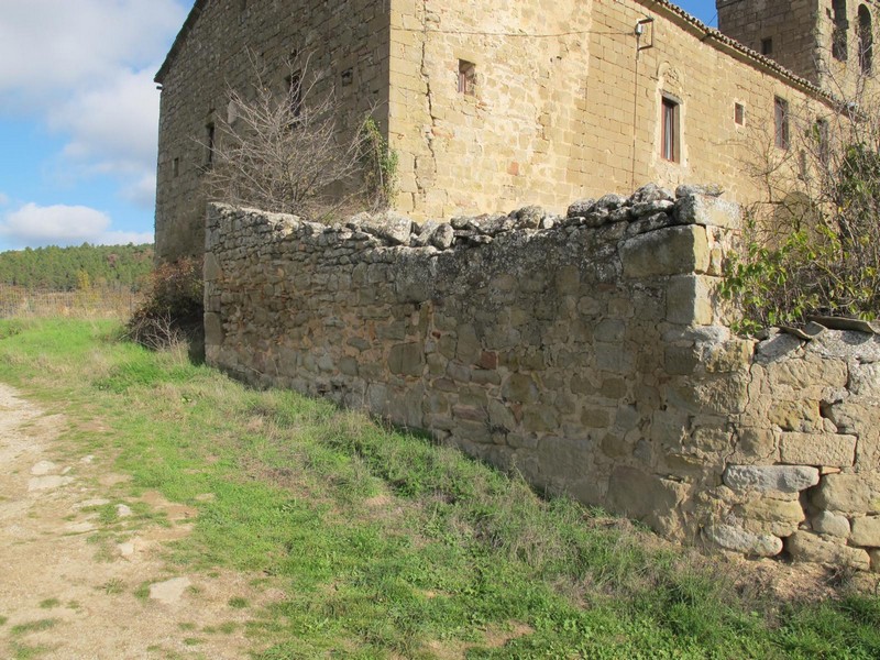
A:
{"type": "Polygon", "coordinates": [[[153,76],[193,0],[1,0],[0,118],[64,142],[57,183],[109,177],[154,205],[158,91],[153,76]]]}

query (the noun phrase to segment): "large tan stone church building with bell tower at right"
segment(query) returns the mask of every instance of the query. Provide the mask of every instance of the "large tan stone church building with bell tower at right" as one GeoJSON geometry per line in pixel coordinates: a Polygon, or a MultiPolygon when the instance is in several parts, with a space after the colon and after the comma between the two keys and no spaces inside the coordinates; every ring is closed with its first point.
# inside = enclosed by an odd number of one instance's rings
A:
{"type": "Polygon", "coordinates": [[[717,183],[749,201],[746,163],[796,148],[872,74],[875,0],[717,0],[718,25],[664,0],[197,0],[162,88],[156,249],[199,254],[204,177],[229,89],[309,53],[353,130],[372,109],[414,218],[563,210],[648,183],[717,183]],[[208,145],[208,146],[206,146],[208,145]]]}

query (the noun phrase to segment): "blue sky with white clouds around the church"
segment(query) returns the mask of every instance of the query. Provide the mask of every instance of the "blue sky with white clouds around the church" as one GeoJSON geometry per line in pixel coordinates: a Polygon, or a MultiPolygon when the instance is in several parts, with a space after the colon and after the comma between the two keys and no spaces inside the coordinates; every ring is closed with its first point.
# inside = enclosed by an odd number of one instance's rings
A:
{"type": "Polygon", "coordinates": [[[153,76],[193,0],[1,1],[0,251],[152,242],[153,76]]]}

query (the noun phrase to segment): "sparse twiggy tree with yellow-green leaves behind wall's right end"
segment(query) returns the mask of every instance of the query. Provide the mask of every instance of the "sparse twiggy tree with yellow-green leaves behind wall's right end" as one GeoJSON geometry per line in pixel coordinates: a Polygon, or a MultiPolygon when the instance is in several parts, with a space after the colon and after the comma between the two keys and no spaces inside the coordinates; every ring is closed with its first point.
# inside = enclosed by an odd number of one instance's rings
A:
{"type": "Polygon", "coordinates": [[[824,102],[787,110],[790,143],[751,138],[763,195],[727,280],[751,329],[880,316],[880,89],[869,59],[824,102]]]}

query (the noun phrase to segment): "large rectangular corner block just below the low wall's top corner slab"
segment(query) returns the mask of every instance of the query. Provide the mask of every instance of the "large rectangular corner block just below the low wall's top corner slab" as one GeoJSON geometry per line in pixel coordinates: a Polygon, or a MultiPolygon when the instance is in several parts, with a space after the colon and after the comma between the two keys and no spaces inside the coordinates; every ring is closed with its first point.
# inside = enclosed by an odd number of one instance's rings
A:
{"type": "Polygon", "coordinates": [[[670,227],[634,237],[620,246],[624,275],[648,278],[705,273],[710,248],[704,227],[670,227]]]}

